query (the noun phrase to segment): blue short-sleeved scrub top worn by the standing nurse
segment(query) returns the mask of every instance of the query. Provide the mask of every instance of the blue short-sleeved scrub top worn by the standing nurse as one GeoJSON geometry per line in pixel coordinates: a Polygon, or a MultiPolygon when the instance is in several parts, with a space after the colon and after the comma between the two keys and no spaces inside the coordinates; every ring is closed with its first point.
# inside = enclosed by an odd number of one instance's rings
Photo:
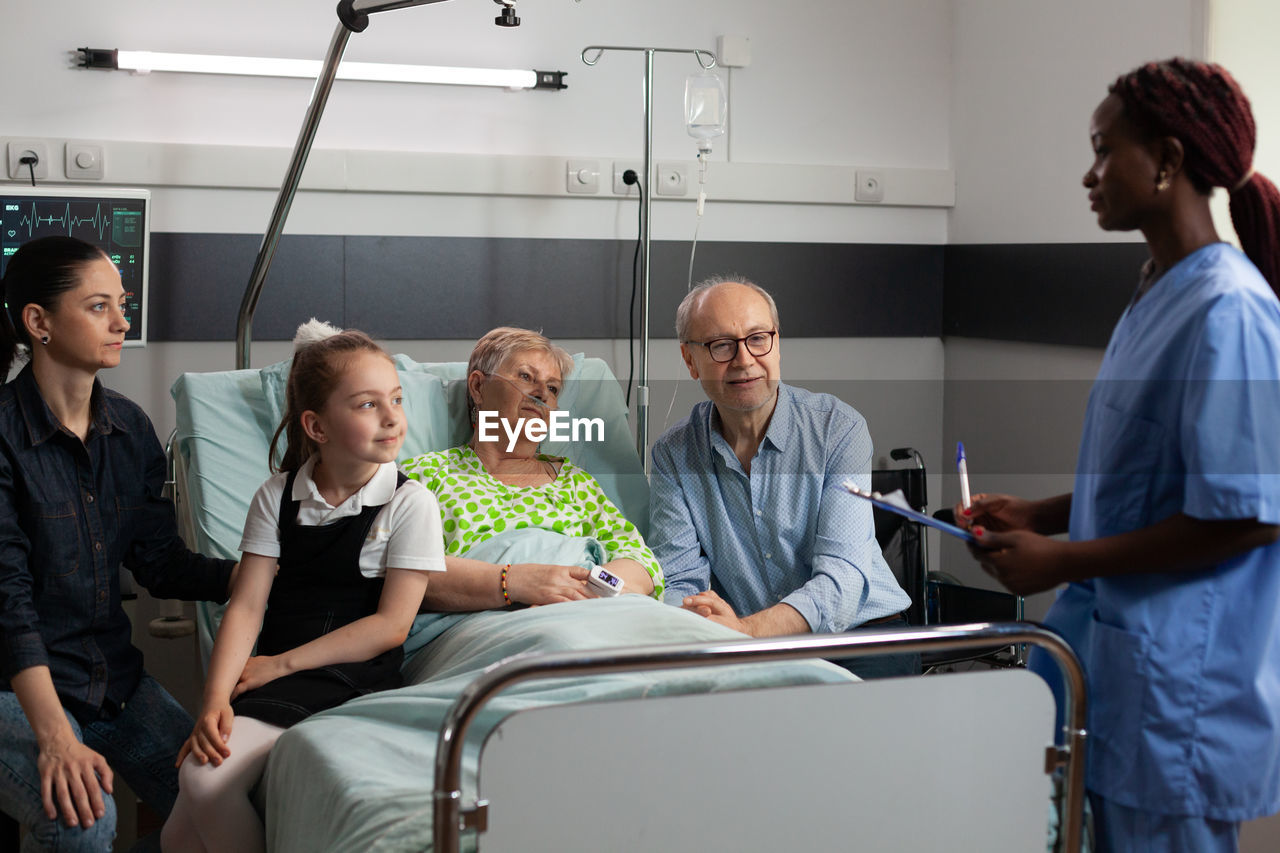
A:
{"type": "MultiPolygon", "coordinates": [[[[1071,539],[1178,512],[1280,524],[1277,379],[1280,302],[1253,264],[1225,243],[1179,261],[1111,336],[1071,539]]],[[[1091,790],[1224,821],[1280,809],[1280,543],[1201,570],[1070,584],[1046,622],[1088,675],[1091,790]]],[[[1053,666],[1037,657],[1033,669],[1053,666]]]]}

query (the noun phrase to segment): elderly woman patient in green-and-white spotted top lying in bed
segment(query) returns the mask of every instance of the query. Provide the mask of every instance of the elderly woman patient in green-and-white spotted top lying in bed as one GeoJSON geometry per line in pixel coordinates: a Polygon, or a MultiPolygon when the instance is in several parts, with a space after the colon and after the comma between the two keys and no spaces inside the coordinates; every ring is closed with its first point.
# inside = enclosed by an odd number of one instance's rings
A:
{"type": "Polygon", "coordinates": [[[467,362],[471,439],[404,461],[440,503],[445,571],[424,610],[475,611],[590,598],[588,566],[603,565],[623,592],[662,597],[662,569],[636,526],[599,483],[566,459],[539,452],[520,419],[549,423],[573,360],[541,334],[497,328],[467,362]],[[477,429],[480,415],[498,429],[477,429]],[[485,441],[497,435],[499,441],[485,441]]]}

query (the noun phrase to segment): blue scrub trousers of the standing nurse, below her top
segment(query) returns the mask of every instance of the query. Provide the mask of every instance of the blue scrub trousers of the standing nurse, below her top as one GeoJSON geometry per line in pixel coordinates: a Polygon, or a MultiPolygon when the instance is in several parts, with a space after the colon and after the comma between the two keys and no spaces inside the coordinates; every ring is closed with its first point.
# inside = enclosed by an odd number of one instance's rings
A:
{"type": "Polygon", "coordinates": [[[1210,817],[1156,815],[1089,792],[1094,853],[1235,853],[1240,825],[1210,817]]]}

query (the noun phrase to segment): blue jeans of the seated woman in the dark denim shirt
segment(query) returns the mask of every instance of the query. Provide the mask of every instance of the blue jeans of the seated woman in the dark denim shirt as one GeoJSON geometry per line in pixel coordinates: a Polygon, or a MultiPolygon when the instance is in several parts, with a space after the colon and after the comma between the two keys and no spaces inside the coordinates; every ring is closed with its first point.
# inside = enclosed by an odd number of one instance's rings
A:
{"type": "MultiPolygon", "coordinates": [[[[111,720],[78,722],[69,713],[76,738],[101,753],[111,771],[122,776],[161,818],[169,816],[178,795],[178,770],[173,762],[195,725],[178,702],[150,675],[111,720]]],[[[111,849],[115,838],[115,803],[104,798],[106,813],[83,829],[67,826],[61,815],[45,816],[36,765],[36,735],[12,690],[0,690],[0,811],[27,829],[23,853],[111,849]]],[[[150,840],[150,839],[148,839],[150,840]]]]}

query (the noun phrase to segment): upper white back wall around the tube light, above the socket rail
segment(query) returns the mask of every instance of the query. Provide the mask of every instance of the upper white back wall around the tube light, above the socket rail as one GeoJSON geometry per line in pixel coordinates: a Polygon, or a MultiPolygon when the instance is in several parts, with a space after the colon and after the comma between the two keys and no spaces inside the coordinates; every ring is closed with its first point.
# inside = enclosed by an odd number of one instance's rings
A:
{"type": "MultiPolygon", "coordinates": [[[[218,4],[134,0],[32,4],[6,15],[5,63],[40,87],[15,88],[14,133],[292,145],[310,85],[256,78],[60,72],[63,53],[90,44],[193,53],[319,58],[335,26],[328,0],[218,4]],[[68,22],[74,20],[74,27],[68,22]],[[50,105],[50,96],[54,96],[50,105]]],[[[938,165],[948,161],[948,4],[809,0],[525,0],[522,24],[502,29],[480,0],[384,13],[352,36],[352,60],[493,65],[571,72],[566,92],[339,83],[319,147],[493,154],[626,154],[640,140],[639,55],[579,60],[589,44],[714,49],[721,33],[751,38],[735,72],[733,156],[746,163],[938,165]],[[852,40],[856,50],[850,49],[852,40]],[[897,78],[887,82],[887,78],[897,78]],[[877,79],[878,86],[850,86],[877,79]],[[346,93],[343,93],[346,92],[346,93]],[[918,110],[900,110],[902,97],[918,110]],[[888,117],[888,118],[886,118],[888,117]],[[800,141],[803,140],[803,141],[800,141]]],[[[680,120],[691,58],[659,56],[655,154],[689,151],[680,120]]]]}

